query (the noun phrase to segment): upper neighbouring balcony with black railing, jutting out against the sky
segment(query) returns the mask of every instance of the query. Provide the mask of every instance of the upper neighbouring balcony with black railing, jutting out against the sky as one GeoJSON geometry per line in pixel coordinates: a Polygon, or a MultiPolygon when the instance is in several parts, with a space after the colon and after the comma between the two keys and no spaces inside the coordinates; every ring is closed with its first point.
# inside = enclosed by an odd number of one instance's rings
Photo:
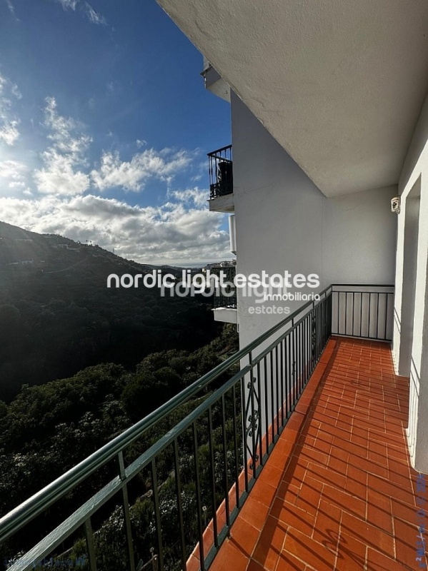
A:
{"type": "Polygon", "coordinates": [[[209,209],[234,212],[232,145],[208,153],[209,209]]]}

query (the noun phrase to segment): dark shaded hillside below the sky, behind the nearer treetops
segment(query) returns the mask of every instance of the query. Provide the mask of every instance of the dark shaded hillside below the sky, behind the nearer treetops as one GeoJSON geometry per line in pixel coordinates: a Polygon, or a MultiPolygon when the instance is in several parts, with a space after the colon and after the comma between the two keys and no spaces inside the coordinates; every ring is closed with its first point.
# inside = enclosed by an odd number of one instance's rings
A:
{"type": "Polygon", "coordinates": [[[195,350],[219,335],[210,298],[162,298],[141,283],[106,288],[111,273],[151,271],[98,246],[0,222],[0,398],[88,365],[131,370],[154,351],[195,350]]]}

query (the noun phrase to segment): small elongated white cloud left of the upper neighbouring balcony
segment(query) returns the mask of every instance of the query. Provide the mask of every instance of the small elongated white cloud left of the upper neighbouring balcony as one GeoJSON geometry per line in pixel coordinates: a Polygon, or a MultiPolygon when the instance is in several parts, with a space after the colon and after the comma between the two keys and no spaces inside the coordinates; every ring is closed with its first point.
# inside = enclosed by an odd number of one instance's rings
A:
{"type": "Polygon", "coordinates": [[[174,174],[190,162],[191,153],[187,151],[164,149],[157,152],[148,148],[136,153],[131,161],[121,161],[117,151],[104,151],[99,168],[91,171],[91,179],[100,191],[117,186],[128,191],[141,191],[149,178],[171,181],[174,174]]]}

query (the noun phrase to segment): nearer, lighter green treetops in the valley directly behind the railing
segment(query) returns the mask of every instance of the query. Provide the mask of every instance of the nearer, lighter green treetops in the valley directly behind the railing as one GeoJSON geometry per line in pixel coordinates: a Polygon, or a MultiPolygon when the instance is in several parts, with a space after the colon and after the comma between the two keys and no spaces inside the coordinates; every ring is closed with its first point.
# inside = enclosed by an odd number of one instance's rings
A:
{"type": "MultiPolygon", "coordinates": [[[[166,350],[147,355],[132,372],[121,365],[107,363],[86,368],[71,378],[55,380],[40,386],[25,385],[9,405],[0,403],[0,514],[4,514],[19,502],[61,475],[126,427],[144,417],[166,399],[204,373],[208,372],[237,349],[234,327],[224,327],[216,340],[194,352],[166,350]]],[[[149,448],[178,420],[184,418],[195,405],[214,390],[224,379],[219,379],[198,398],[182,405],[164,422],[146,433],[126,452],[126,463],[149,448]]],[[[239,401],[237,394],[237,401],[239,401]]],[[[225,438],[229,482],[234,474],[232,454],[232,399],[226,400],[227,415],[225,438]]],[[[213,408],[213,438],[216,459],[215,474],[217,502],[224,497],[223,433],[221,407],[213,408]]],[[[199,420],[199,464],[202,500],[211,505],[209,450],[206,444],[207,419],[199,420]]],[[[241,463],[242,459],[239,459],[241,463]]],[[[171,450],[158,458],[159,500],[164,534],[166,569],[176,569],[179,560],[178,514],[174,496],[174,475],[171,475],[171,450]]],[[[10,561],[19,550],[31,547],[39,534],[47,532],[76,509],[76,502],[83,502],[117,473],[115,465],[107,466],[81,485],[64,502],[27,526],[24,535],[6,542],[0,551],[1,562],[10,561]]],[[[194,494],[194,448],[191,432],[180,441],[180,473],[186,545],[190,552],[197,542],[194,494]]],[[[150,547],[156,545],[154,508],[150,494],[151,474],[143,470],[129,486],[131,522],[135,538],[136,557],[149,560],[150,547]]],[[[208,510],[208,515],[211,511],[208,510]]],[[[120,502],[112,500],[96,521],[96,550],[100,567],[104,570],[126,570],[124,541],[124,517],[120,502]]],[[[75,537],[70,545],[62,545],[55,554],[62,567],[74,567],[76,561],[86,568],[84,540],[75,537]]],[[[49,565],[42,566],[49,568],[49,565]]]]}

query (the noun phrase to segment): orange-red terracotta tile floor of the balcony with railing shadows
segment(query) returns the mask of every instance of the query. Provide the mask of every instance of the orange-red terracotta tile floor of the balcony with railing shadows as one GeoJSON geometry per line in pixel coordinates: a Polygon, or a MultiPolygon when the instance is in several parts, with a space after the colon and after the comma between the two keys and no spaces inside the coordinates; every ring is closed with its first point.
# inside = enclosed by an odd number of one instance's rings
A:
{"type": "Polygon", "coordinates": [[[426,568],[407,407],[389,345],[330,340],[210,571],[426,568]]]}

